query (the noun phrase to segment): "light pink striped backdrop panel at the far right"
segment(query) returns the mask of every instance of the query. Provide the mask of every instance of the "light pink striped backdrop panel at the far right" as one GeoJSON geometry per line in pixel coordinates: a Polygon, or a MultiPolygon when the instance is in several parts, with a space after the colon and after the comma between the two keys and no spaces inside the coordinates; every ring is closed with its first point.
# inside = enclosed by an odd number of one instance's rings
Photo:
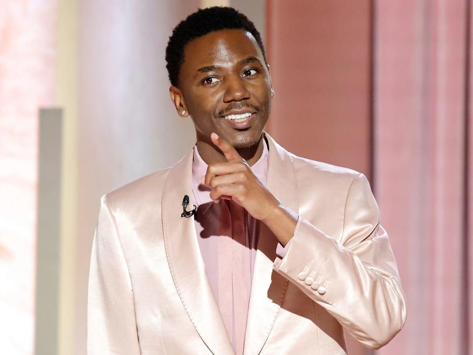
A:
{"type": "Polygon", "coordinates": [[[383,355],[468,354],[467,10],[465,0],[375,6],[374,185],[408,302],[383,355]]]}

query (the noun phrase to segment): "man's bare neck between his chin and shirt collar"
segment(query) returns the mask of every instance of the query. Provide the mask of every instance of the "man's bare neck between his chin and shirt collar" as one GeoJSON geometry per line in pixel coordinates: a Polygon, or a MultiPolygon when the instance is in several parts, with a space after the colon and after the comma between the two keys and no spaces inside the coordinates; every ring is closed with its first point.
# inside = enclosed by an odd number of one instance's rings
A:
{"type": "MultiPolygon", "coordinates": [[[[256,144],[247,148],[236,149],[236,151],[244,160],[246,160],[249,166],[252,166],[261,158],[261,155],[263,154],[263,144],[264,138],[263,135],[261,135],[256,144]]],[[[197,141],[197,150],[207,165],[227,161],[225,155],[223,155],[220,149],[213,145],[212,142],[197,141]]]]}

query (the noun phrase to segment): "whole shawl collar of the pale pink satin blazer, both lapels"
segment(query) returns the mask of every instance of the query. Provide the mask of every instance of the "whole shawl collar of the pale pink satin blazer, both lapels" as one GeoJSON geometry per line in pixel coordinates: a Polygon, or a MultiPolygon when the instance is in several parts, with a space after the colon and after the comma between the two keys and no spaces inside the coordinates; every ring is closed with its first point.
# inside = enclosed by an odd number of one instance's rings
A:
{"type": "MultiPolygon", "coordinates": [[[[269,145],[267,188],[288,208],[298,213],[298,191],[292,154],[264,132],[269,145]]],[[[191,149],[169,169],[163,189],[164,244],[172,280],[197,332],[213,354],[233,354],[232,344],[210,288],[197,240],[194,217],[181,218],[182,197],[192,195],[191,149]]],[[[192,206],[192,199],[189,206],[192,206]]],[[[287,279],[273,271],[277,239],[261,225],[256,251],[244,354],[259,354],[276,319],[287,279]]]]}

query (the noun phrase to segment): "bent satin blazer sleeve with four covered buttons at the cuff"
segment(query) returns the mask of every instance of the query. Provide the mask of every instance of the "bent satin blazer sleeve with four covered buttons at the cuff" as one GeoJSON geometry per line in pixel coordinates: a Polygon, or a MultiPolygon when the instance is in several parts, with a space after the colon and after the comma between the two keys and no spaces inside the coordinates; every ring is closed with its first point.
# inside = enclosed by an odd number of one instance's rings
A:
{"type": "Polygon", "coordinates": [[[365,346],[387,344],[404,326],[406,302],[368,179],[358,173],[348,189],[339,239],[299,218],[291,246],[284,258],[276,257],[274,270],[365,346]]]}

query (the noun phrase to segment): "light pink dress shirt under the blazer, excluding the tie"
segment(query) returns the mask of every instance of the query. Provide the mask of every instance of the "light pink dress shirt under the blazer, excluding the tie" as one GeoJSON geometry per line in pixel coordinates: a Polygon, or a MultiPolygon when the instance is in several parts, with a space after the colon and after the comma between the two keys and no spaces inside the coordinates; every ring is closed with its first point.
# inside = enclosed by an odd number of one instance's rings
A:
{"type": "MultiPolygon", "coordinates": [[[[253,174],[266,186],[266,180],[268,176],[268,146],[266,141],[263,144],[263,153],[260,159],[251,166],[253,174]]],[[[199,247],[205,264],[207,277],[212,288],[212,292],[215,296],[215,300],[218,303],[218,238],[219,236],[219,220],[220,220],[220,203],[213,203],[210,198],[210,188],[201,184],[201,178],[207,171],[207,164],[203,161],[199,154],[197,145],[194,146],[194,161],[192,164],[192,192],[196,200],[197,215],[195,218],[195,226],[197,237],[199,241],[199,247]]],[[[248,238],[246,238],[246,247],[248,248],[248,263],[245,265],[246,270],[249,270],[246,274],[248,277],[245,280],[247,287],[247,294],[251,292],[251,279],[253,277],[253,267],[256,256],[256,246],[258,244],[260,221],[253,218],[250,214],[247,216],[247,230],[248,238]]],[[[278,243],[276,253],[282,258],[286,254],[287,250],[291,245],[291,240],[282,247],[278,243]]],[[[241,277],[245,277],[241,275],[241,277]]],[[[235,299],[235,297],[234,297],[235,299]]],[[[248,299],[249,301],[249,299],[248,299]]],[[[243,332],[245,329],[235,329],[231,337],[231,342],[234,350],[236,349],[236,332],[243,332]]]]}

